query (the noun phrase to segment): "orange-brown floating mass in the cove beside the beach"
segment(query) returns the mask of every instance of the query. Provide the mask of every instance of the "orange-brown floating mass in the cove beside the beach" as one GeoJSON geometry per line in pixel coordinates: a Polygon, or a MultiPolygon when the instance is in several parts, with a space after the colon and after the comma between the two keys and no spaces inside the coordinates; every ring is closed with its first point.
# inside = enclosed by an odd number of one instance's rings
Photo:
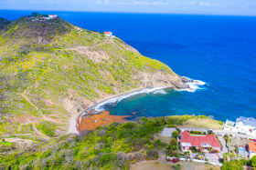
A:
{"type": "Polygon", "coordinates": [[[86,117],[81,118],[81,121],[78,121],[80,122],[78,129],[80,132],[84,130],[94,130],[99,126],[109,125],[113,122],[124,122],[125,117],[129,117],[129,115],[110,115],[109,111],[97,115],[87,115],[86,117]]]}

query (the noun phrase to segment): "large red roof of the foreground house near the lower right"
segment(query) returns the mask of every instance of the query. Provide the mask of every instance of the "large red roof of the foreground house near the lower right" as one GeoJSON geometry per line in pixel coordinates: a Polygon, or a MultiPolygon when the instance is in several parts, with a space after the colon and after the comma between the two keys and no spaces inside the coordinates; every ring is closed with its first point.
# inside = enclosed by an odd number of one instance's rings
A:
{"type": "Polygon", "coordinates": [[[215,135],[190,135],[189,132],[184,131],[180,133],[181,143],[190,143],[191,146],[200,146],[202,144],[211,145],[212,147],[221,147],[215,135]]]}

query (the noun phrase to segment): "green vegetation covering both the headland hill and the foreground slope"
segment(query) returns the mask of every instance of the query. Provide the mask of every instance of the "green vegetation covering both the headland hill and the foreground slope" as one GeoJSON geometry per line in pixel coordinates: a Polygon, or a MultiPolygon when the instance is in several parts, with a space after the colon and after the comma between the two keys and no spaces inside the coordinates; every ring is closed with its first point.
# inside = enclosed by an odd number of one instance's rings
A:
{"type": "Polygon", "coordinates": [[[67,136],[70,115],[99,99],[136,88],[177,85],[179,76],[117,37],[59,17],[48,20],[33,13],[0,23],[0,135],[31,143],[1,142],[0,169],[129,169],[161,152],[179,156],[179,129],[169,145],[155,138],[165,126],[208,120],[194,115],[142,117],[67,136]]]}

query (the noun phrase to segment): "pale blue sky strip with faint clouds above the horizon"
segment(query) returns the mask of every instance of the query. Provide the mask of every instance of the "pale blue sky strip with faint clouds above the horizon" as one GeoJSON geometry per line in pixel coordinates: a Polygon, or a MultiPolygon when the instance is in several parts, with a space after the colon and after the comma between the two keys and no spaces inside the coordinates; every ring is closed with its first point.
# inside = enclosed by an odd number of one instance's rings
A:
{"type": "Polygon", "coordinates": [[[0,9],[256,15],[256,0],[0,0],[0,9]]]}

